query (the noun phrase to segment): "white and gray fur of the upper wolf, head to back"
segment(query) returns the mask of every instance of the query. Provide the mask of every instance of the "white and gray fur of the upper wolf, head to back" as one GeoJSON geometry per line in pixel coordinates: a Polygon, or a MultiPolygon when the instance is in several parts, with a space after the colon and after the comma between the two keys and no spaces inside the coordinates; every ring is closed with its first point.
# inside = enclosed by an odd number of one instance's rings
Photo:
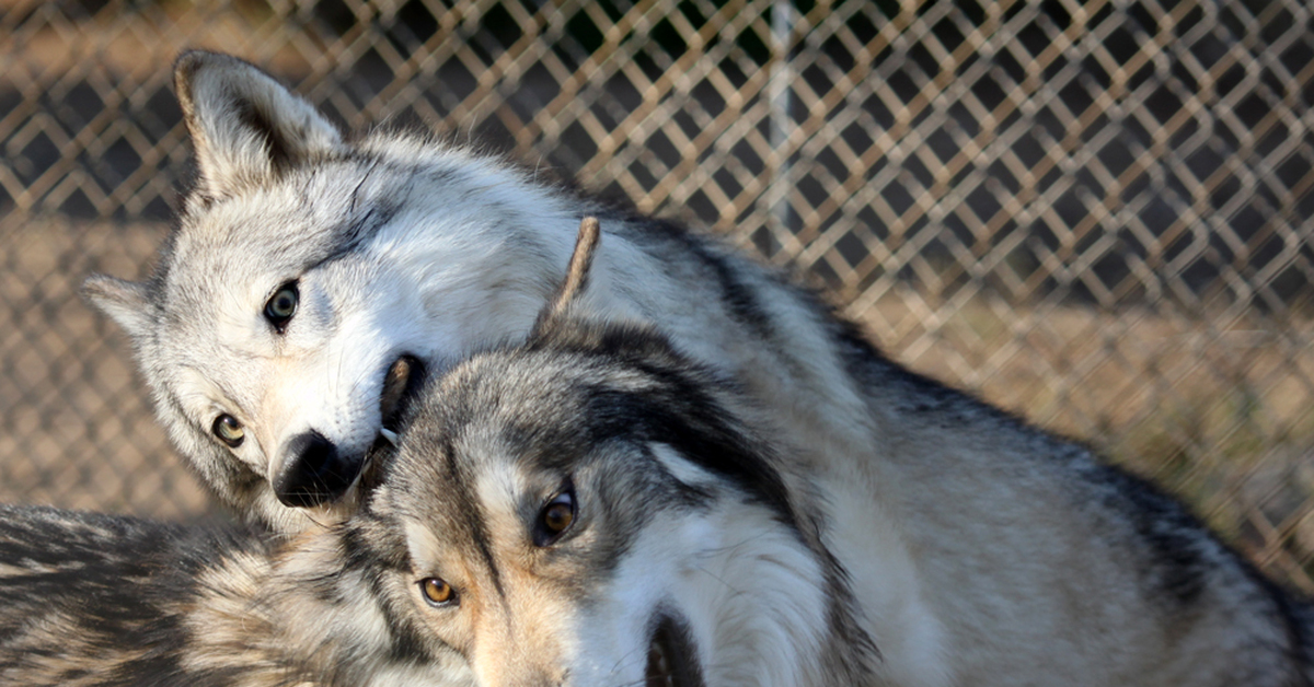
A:
{"type": "Polygon", "coordinates": [[[87,292],[131,335],[183,454],[239,512],[289,532],[350,514],[351,495],[319,514],[277,503],[280,447],[314,430],[359,456],[396,356],[438,374],[522,340],[595,215],[578,309],[650,326],[736,385],[761,414],[749,433],[781,437],[770,464],[805,506],[808,550],[844,571],[851,598],[825,594],[849,638],[874,646],[855,669],[872,683],[1305,679],[1305,606],[1181,506],[904,370],[771,269],[469,150],[350,141],[233,58],[189,54],[177,75],[196,190],[150,281],[95,277],[87,292]],[[293,278],[301,310],[280,335],[260,313],[293,278]],[[221,412],[247,428],[237,449],[210,435],[221,412]]]}

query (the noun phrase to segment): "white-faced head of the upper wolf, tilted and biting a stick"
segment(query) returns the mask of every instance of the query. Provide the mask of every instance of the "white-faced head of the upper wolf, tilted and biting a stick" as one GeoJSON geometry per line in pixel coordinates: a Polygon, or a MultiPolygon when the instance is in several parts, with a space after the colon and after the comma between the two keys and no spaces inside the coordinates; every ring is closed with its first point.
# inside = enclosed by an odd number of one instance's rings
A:
{"type": "Polygon", "coordinates": [[[235,58],[188,53],[176,87],[198,171],[179,227],[150,280],[84,290],[205,482],[298,529],[350,506],[423,370],[530,330],[578,214],[461,150],[348,141],[235,58]]]}

